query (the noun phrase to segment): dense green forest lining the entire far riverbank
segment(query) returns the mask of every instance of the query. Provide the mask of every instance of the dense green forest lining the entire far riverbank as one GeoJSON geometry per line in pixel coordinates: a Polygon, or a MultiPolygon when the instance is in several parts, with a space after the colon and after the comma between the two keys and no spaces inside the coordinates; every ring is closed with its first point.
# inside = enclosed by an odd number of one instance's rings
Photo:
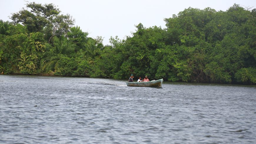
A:
{"type": "Polygon", "coordinates": [[[88,37],[54,4],[27,3],[0,20],[4,74],[256,84],[256,9],[189,7],[166,28],[136,26],[124,40],[88,37]]]}

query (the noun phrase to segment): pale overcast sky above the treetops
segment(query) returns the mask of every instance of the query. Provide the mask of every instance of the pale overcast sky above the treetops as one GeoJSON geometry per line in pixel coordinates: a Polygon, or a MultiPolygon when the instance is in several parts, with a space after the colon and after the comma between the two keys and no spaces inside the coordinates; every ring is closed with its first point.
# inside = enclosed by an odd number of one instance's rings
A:
{"type": "MultiPolygon", "coordinates": [[[[256,0],[28,0],[36,3],[53,3],[63,14],[75,18],[75,25],[87,31],[90,37],[104,37],[109,44],[110,36],[123,39],[135,31],[134,25],[142,23],[145,27],[161,26],[165,28],[164,18],[172,17],[188,8],[204,9],[211,7],[217,11],[226,11],[234,3],[240,6],[256,8],[256,0]]],[[[8,16],[25,7],[22,0],[1,0],[0,19],[11,21],[8,16]]]]}

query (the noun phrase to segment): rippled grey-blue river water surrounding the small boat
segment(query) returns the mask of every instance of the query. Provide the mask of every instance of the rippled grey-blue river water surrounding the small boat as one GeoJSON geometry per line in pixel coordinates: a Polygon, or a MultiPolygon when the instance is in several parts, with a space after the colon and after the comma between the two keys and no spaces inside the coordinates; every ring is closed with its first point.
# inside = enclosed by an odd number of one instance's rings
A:
{"type": "Polygon", "coordinates": [[[256,143],[256,87],[0,75],[0,143],[256,143]]]}

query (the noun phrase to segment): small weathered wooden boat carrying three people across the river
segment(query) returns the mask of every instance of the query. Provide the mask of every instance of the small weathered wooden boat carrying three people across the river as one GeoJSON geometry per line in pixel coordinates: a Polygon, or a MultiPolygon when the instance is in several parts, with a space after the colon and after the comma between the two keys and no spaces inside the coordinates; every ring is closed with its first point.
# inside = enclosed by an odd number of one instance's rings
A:
{"type": "Polygon", "coordinates": [[[126,82],[127,86],[162,87],[163,79],[149,82],[126,82]]]}

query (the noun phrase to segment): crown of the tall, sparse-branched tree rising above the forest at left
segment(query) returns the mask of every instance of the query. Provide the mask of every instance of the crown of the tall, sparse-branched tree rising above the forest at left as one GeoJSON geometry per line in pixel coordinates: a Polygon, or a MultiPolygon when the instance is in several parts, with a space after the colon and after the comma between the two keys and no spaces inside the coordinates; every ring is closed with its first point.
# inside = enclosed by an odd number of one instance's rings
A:
{"type": "Polygon", "coordinates": [[[21,23],[27,27],[29,32],[45,32],[49,35],[48,43],[56,35],[67,35],[74,25],[74,19],[69,14],[60,14],[60,10],[54,4],[37,4],[30,2],[26,4],[27,9],[21,9],[13,13],[11,19],[15,24],[21,23]],[[49,34],[50,33],[50,34],[49,34]]]}

